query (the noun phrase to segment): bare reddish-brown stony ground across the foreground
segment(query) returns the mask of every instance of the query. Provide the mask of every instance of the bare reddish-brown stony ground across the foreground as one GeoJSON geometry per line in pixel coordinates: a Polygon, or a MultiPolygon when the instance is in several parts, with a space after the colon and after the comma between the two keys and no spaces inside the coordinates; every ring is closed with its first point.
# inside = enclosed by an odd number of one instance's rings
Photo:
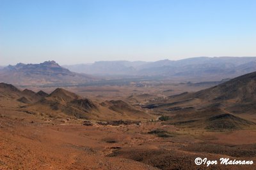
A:
{"type": "MultiPolygon", "coordinates": [[[[245,136],[243,141],[236,140],[236,135],[242,134],[255,139],[255,131],[202,133],[161,122],[143,122],[141,126],[104,126],[93,122],[93,126],[84,126],[81,120],[49,122],[27,115],[2,114],[0,169],[205,169],[206,166],[195,165],[196,157],[256,161],[256,147],[245,145],[250,143],[245,136]],[[167,131],[170,136],[148,134],[156,129],[167,131]],[[228,140],[234,141],[233,148],[223,142],[228,140]],[[237,150],[240,156],[236,155],[237,150]]],[[[254,164],[209,167],[255,168],[254,164]]]]}

